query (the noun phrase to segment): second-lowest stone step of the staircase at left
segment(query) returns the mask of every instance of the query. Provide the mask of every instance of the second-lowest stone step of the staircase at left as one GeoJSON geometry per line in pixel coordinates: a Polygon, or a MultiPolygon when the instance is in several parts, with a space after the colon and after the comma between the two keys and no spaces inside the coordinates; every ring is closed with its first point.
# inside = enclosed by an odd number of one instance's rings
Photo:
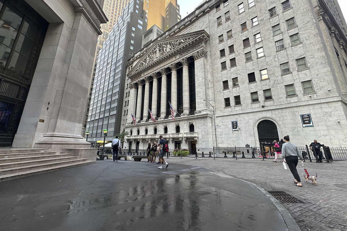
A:
{"type": "Polygon", "coordinates": [[[11,173],[25,172],[25,171],[35,170],[35,169],[51,168],[58,165],[73,164],[73,163],[82,162],[85,160],[86,159],[73,159],[73,160],[67,160],[67,161],[57,161],[57,162],[50,162],[50,163],[33,164],[33,165],[7,168],[7,169],[0,169],[0,177],[2,175],[7,175],[11,173]]]}

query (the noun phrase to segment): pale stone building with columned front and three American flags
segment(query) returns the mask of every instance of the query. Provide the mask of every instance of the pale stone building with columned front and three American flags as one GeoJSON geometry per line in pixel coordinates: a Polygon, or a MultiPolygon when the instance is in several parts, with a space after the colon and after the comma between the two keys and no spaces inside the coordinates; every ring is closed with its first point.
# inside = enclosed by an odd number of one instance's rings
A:
{"type": "Polygon", "coordinates": [[[347,40],[333,9],[266,2],[264,10],[262,2],[206,1],[128,60],[125,149],[145,149],[159,135],[177,149],[216,140],[254,147],[285,135],[296,145],[345,145],[347,40]]]}

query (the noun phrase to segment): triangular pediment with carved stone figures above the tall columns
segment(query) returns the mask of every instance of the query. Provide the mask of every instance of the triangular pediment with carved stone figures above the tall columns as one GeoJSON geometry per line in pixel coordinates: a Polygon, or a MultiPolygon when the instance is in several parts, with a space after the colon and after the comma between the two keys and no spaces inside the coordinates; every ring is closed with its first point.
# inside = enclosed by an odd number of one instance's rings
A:
{"type": "Polygon", "coordinates": [[[208,38],[209,35],[206,31],[201,30],[156,40],[153,44],[147,46],[147,48],[142,51],[140,50],[140,54],[135,55],[135,59],[133,60],[135,65],[130,69],[127,76],[137,75],[139,72],[149,69],[172,55],[177,54],[187,46],[201,43],[202,41],[205,43],[208,38]]]}

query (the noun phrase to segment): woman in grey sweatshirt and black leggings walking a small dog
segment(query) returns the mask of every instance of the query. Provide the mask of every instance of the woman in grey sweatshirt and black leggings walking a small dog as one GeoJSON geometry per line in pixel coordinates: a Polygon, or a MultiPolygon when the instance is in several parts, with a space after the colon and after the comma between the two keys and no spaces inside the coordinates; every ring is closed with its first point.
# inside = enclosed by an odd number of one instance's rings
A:
{"type": "Polygon", "coordinates": [[[293,174],[295,178],[295,186],[303,187],[298,171],[296,170],[296,166],[298,165],[298,157],[300,158],[300,160],[303,160],[303,156],[299,152],[299,149],[296,147],[296,145],[289,142],[289,136],[285,136],[283,137],[283,139],[286,143],[282,145],[281,151],[284,155],[286,163],[288,164],[291,174],[293,174]]]}

